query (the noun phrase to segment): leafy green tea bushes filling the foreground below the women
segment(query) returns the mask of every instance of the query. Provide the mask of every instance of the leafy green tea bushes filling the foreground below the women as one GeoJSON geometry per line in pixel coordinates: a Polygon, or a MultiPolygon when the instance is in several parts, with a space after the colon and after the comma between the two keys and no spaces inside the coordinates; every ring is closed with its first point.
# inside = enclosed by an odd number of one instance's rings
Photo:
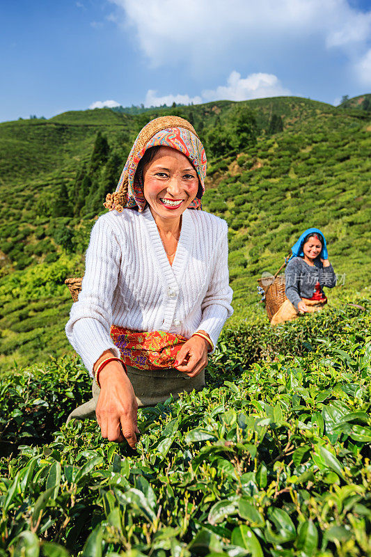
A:
{"type": "Polygon", "coordinates": [[[370,304],[223,332],[199,393],[95,421],[77,357],[0,380],[0,554],[371,554],[370,304]]]}

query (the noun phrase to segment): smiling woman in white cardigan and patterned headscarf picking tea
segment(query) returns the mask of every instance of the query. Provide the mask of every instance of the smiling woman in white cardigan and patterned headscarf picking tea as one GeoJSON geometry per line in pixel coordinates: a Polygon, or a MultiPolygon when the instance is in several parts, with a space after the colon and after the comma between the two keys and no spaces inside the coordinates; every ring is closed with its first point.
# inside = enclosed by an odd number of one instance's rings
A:
{"type": "MultiPolygon", "coordinates": [[[[66,334],[93,379],[102,435],[136,444],[136,410],[205,385],[207,353],[232,314],[227,224],[203,212],[206,156],[187,120],[137,137],[110,211],[93,227],[66,334]]],[[[70,419],[69,418],[69,419],[70,419]]]]}

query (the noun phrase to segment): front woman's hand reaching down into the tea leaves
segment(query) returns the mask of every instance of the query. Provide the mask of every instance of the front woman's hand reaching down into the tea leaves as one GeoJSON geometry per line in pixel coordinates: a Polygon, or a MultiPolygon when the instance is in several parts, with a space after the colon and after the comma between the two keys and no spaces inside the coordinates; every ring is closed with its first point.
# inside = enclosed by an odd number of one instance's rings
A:
{"type": "Polygon", "coordinates": [[[140,433],[137,425],[138,404],[132,384],[120,362],[107,363],[100,372],[99,381],[100,395],[95,414],[102,437],[118,443],[126,439],[134,448],[136,434],[140,433]]]}

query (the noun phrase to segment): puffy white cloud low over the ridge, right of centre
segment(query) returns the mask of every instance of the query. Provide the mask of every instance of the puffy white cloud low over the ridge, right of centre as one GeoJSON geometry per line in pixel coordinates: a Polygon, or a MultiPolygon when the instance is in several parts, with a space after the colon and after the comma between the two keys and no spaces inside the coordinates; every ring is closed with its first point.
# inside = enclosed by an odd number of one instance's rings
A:
{"type": "Polygon", "coordinates": [[[213,91],[203,91],[205,101],[210,100],[249,100],[265,97],[281,97],[291,95],[291,91],[281,85],[274,74],[250,74],[242,78],[239,72],[233,71],[226,85],[219,85],[213,91]]]}

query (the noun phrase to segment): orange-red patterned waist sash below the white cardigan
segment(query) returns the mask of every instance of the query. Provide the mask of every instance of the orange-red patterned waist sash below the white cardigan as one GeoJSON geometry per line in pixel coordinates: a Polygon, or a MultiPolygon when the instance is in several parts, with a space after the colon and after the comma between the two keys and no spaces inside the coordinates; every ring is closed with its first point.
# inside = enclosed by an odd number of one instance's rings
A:
{"type": "Polygon", "coordinates": [[[187,338],[165,331],[130,331],[112,325],[111,338],[126,366],[140,370],[172,368],[187,338]]]}

